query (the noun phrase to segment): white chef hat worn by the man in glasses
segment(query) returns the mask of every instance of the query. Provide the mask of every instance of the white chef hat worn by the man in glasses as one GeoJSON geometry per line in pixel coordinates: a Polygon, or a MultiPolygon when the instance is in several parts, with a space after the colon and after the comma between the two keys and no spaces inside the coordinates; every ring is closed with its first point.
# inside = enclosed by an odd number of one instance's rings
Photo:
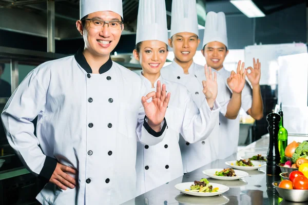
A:
{"type": "Polygon", "coordinates": [[[113,11],[123,18],[122,0],[80,0],[80,19],[98,11],[113,11]]]}

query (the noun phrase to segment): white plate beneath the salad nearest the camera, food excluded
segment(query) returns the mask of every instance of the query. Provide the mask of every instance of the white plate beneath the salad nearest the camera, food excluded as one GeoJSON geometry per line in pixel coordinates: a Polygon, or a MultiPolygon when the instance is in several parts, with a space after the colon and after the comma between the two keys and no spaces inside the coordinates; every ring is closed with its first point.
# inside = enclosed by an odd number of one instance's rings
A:
{"type": "Polygon", "coordinates": [[[209,183],[211,186],[213,186],[213,188],[217,188],[218,187],[218,192],[191,192],[191,191],[185,191],[185,189],[190,190],[190,186],[194,185],[194,182],[185,182],[185,183],[178,183],[175,188],[181,192],[183,192],[184,194],[188,194],[188,195],[192,195],[192,196],[216,196],[219,194],[223,194],[226,191],[229,190],[229,188],[227,186],[224,185],[220,185],[219,183],[209,183]]]}

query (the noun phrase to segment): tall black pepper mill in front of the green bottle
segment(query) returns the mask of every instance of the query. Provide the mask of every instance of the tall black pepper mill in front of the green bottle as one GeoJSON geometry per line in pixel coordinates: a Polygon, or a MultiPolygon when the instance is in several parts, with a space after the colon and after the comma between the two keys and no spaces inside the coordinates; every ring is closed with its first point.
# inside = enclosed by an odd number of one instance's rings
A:
{"type": "Polygon", "coordinates": [[[269,113],[266,116],[266,121],[268,122],[268,133],[269,133],[269,147],[267,151],[267,161],[266,161],[266,174],[270,176],[275,176],[280,174],[280,168],[276,165],[280,162],[280,153],[278,149],[278,131],[280,115],[275,113],[269,113]]]}

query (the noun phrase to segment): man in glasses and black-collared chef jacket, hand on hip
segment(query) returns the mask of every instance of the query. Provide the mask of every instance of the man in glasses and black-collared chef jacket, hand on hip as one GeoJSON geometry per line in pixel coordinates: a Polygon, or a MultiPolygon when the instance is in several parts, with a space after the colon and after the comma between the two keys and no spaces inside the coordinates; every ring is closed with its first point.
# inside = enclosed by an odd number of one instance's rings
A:
{"type": "Polygon", "coordinates": [[[111,61],[123,30],[121,0],[82,0],[80,11],[85,47],[31,71],[2,120],[24,164],[49,180],[38,201],[119,204],[136,191],[136,133],[147,145],[163,140],[170,94],[163,85],[144,97],[140,77],[111,61]]]}

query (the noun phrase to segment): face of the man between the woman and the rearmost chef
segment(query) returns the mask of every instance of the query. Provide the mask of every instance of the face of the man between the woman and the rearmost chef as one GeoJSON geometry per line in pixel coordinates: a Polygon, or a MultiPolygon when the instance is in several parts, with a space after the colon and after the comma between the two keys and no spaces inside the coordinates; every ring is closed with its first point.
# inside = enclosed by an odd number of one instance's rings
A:
{"type": "Polygon", "coordinates": [[[188,63],[195,56],[200,39],[195,33],[181,32],[169,39],[169,46],[175,54],[175,58],[182,62],[188,63]]]}

